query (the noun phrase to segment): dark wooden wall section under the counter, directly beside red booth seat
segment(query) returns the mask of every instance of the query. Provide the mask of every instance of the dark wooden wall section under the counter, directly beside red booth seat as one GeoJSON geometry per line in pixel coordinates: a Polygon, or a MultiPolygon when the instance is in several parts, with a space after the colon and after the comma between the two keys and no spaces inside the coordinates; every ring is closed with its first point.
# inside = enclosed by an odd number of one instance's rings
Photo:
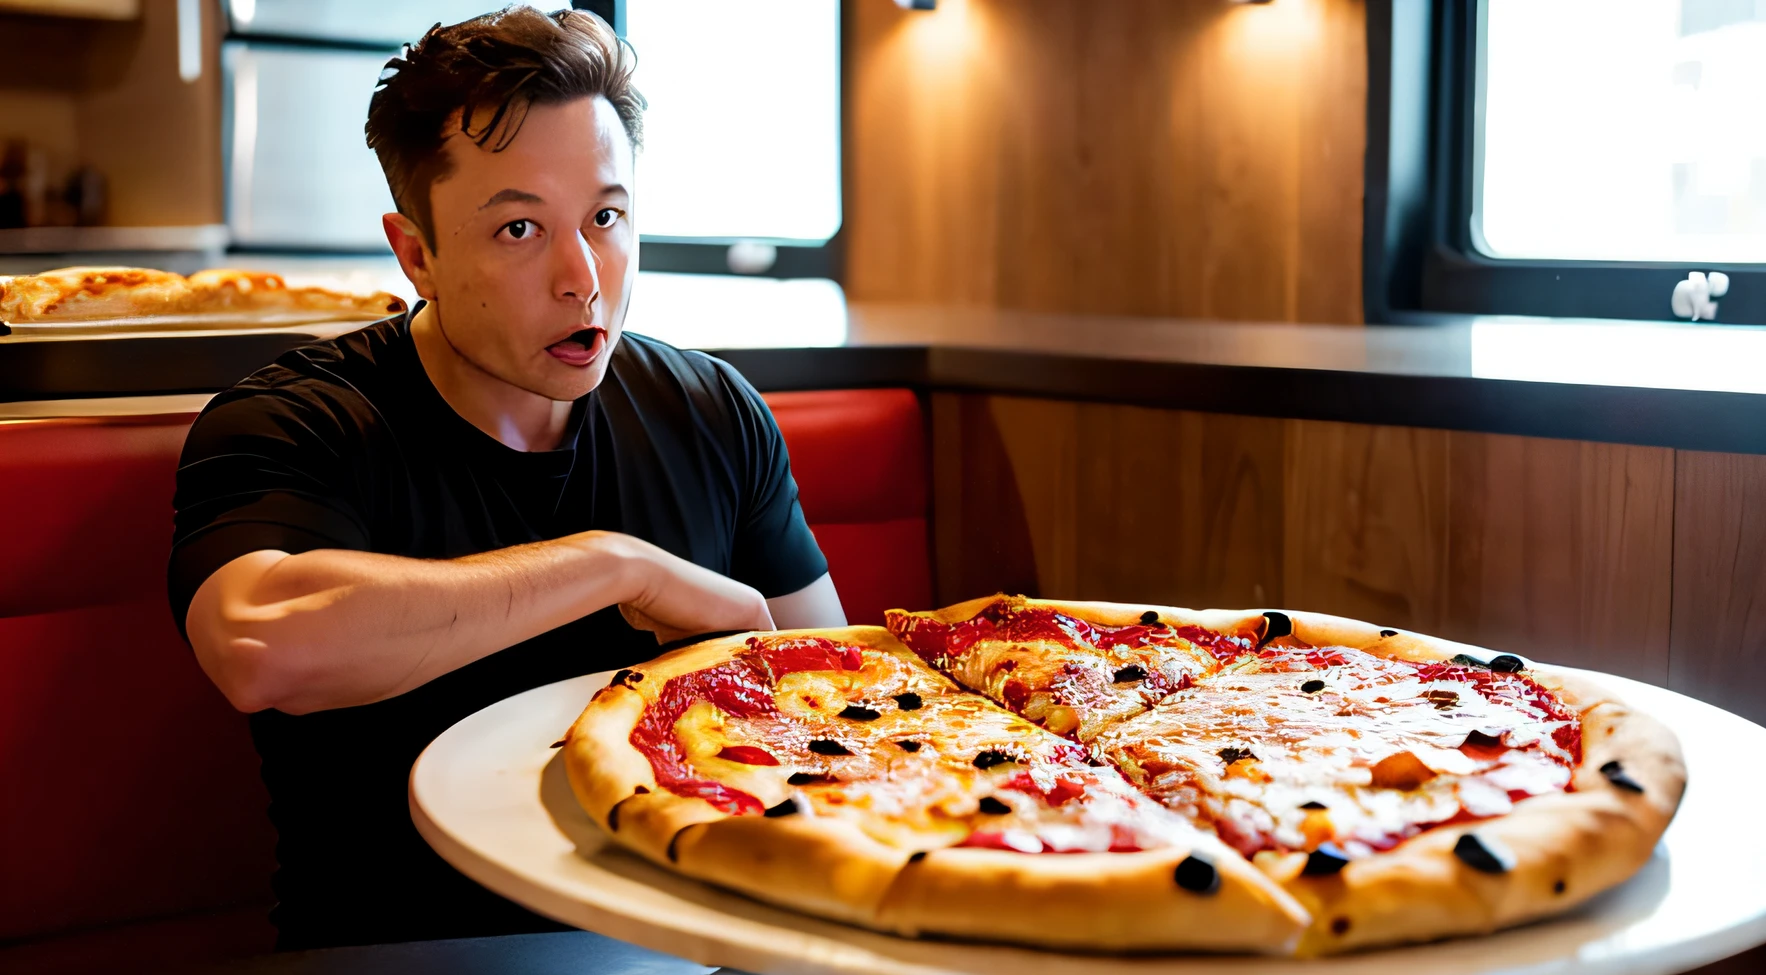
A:
{"type": "Polygon", "coordinates": [[[932,450],[940,602],[1280,602],[1282,420],[936,394],[932,450]]]}

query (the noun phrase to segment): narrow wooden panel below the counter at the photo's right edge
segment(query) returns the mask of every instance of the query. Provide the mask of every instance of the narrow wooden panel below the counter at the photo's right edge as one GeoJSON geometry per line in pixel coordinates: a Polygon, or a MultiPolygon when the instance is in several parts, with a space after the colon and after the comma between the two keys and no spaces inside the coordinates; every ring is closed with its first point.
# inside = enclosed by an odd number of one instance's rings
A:
{"type": "Polygon", "coordinates": [[[1667,682],[1766,724],[1766,457],[1676,459],[1667,682]]]}

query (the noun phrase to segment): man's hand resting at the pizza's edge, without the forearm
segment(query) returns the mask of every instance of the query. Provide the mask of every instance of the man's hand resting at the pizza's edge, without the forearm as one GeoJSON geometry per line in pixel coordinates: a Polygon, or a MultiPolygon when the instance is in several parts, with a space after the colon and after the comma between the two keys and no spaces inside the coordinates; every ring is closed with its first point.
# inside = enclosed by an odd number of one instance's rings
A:
{"type": "Polygon", "coordinates": [[[620,537],[641,565],[639,592],[620,602],[620,615],[636,629],[673,643],[701,632],[774,629],[759,590],[694,565],[648,542],[620,537]]]}

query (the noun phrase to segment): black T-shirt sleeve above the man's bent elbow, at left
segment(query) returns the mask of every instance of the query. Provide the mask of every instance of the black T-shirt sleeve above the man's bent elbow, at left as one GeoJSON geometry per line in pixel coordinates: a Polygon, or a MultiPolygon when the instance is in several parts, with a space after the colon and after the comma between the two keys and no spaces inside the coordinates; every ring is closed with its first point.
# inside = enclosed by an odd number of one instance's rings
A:
{"type": "Polygon", "coordinates": [[[196,590],[253,551],[367,549],[360,429],[336,403],[231,390],[184,442],[166,590],[184,631],[196,590]]]}

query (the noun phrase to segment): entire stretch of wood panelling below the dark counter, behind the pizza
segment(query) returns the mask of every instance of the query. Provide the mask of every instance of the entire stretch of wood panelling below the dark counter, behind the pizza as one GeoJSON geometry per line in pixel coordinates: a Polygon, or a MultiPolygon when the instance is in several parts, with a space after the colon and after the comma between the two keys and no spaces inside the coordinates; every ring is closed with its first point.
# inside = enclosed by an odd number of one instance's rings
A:
{"type": "Polygon", "coordinates": [[[1766,717],[1766,457],[932,401],[940,602],[1289,606],[1766,717]]]}

